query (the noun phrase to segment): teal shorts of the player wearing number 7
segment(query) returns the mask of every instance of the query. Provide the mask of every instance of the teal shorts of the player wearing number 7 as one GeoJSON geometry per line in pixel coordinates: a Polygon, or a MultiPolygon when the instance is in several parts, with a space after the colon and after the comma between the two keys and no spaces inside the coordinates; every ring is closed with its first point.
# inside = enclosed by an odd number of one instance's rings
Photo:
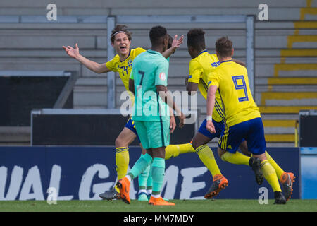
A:
{"type": "Polygon", "coordinates": [[[144,149],[170,144],[170,121],[135,121],[135,129],[144,149]]]}

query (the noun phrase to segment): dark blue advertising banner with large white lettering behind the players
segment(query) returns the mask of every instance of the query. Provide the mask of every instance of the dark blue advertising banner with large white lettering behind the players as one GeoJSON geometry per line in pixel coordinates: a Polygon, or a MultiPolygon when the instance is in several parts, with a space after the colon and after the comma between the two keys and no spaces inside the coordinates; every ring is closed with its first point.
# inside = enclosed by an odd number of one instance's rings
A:
{"type": "MultiPolygon", "coordinates": [[[[271,157],[286,172],[297,177],[292,198],[299,198],[299,148],[268,148],[271,157]]],[[[228,187],[216,198],[254,198],[266,181],[256,184],[254,172],[247,165],[223,162],[213,153],[228,187]]],[[[141,155],[139,147],[130,148],[130,167],[141,155]]],[[[129,167],[129,169],[130,169],[129,167]]],[[[115,148],[110,146],[37,146],[0,147],[0,200],[46,200],[48,189],[57,191],[57,200],[100,200],[98,194],[110,189],[116,180],[115,148]]],[[[200,199],[212,184],[209,170],[196,153],[186,153],[166,160],[162,196],[170,199],[200,199]]],[[[137,197],[137,179],[131,184],[130,197],[137,197]]]]}

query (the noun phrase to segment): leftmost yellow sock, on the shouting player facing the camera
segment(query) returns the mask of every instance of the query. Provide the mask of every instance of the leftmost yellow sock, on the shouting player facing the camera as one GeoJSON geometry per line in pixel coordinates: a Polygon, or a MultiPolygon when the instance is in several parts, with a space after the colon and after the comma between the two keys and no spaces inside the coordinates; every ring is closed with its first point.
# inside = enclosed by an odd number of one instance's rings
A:
{"type": "MultiPolygon", "coordinates": [[[[117,181],[127,174],[129,165],[129,148],[120,147],[116,148],[116,170],[117,170],[117,181]]],[[[118,192],[119,189],[116,187],[118,192]]]]}

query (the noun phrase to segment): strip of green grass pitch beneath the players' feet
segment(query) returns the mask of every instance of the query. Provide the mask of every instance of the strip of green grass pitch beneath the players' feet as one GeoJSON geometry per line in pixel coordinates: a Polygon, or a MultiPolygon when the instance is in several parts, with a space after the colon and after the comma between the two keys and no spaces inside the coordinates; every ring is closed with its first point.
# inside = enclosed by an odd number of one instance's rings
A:
{"type": "Polygon", "coordinates": [[[132,200],[130,205],[113,201],[0,201],[0,212],[316,212],[317,200],[290,199],[286,205],[260,205],[250,199],[170,200],[175,206],[150,206],[132,200]]]}

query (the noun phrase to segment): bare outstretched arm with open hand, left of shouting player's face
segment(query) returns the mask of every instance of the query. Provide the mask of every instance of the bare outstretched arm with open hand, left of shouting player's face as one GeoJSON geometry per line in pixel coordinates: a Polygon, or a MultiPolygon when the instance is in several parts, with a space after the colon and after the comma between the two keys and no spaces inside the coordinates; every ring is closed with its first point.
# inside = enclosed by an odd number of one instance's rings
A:
{"type": "Polygon", "coordinates": [[[84,64],[87,69],[94,71],[95,73],[106,73],[111,71],[106,67],[106,64],[99,64],[87,59],[86,57],[83,57],[79,52],[78,43],[75,44],[75,48],[68,45],[68,47],[63,46],[63,49],[65,49],[68,56],[77,59],[77,61],[80,61],[80,63],[84,64]]]}

